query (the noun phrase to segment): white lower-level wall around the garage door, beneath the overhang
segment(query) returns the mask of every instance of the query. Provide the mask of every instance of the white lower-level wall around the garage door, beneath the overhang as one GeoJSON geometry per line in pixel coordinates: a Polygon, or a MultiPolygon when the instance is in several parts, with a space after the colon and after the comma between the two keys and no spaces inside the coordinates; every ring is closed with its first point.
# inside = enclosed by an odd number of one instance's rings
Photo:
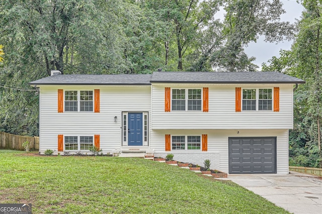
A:
{"type": "Polygon", "coordinates": [[[229,137],[277,137],[277,174],[288,174],[288,130],[153,130],[150,148],[155,157],[174,154],[174,159],[203,166],[205,159],[211,160],[211,168],[228,173],[229,137]],[[239,133],[238,133],[239,132],[239,133]],[[165,152],[165,135],[208,135],[208,151],[165,152]],[[218,155],[219,154],[219,155],[218,155]]]}

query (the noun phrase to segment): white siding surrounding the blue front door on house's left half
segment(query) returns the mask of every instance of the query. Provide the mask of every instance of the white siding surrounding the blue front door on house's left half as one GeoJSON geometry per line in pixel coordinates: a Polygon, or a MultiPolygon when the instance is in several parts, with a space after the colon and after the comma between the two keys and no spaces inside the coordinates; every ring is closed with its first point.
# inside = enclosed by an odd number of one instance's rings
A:
{"type": "Polygon", "coordinates": [[[40,152],[57,152],[57,135],[100,135],[104,153],[121,147],[122,112],[149,112],[150,86],[41,86],[40,152]],[[100,113],[57,112],[58,89],[100,89],[100,113]],[[114,117],[117,122],[114,122],[114,117]]]}

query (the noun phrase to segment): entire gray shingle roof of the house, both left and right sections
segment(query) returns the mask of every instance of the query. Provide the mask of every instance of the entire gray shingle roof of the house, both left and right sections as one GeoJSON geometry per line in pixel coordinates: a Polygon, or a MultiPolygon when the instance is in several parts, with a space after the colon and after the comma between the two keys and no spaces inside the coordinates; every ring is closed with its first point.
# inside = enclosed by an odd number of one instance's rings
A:
{"type": "Polygon", "coordinates": [[[31,85],[150,85],[151,83],[305,83],[283,73],[268,72],[153,72],[153,74],[58,74],[31,85]]]}

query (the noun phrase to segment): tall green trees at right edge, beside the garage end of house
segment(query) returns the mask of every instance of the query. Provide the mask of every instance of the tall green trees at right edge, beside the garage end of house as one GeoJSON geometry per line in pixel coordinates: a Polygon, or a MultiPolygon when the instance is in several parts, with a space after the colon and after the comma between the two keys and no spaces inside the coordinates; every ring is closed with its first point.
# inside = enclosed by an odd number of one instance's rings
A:
{"type": "Polygon", "coordinates": [[[293,164],[322,167],[322,4],[302,1],[304,11],[290,51],[273,57],[264,69],[279,67],[290,75],[304,79],[294,92],[294,130],[290,133],[290,156],[293,164]]]}

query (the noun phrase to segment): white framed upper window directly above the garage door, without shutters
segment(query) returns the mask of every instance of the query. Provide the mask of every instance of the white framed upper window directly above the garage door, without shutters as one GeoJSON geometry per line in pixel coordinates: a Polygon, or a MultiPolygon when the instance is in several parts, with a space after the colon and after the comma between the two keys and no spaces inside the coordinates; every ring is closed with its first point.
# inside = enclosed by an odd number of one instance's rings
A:
{"type": "Polygon", "coordinates": [[[243,111],[272,111],[272,88],[243,88],[243,111]]]}

